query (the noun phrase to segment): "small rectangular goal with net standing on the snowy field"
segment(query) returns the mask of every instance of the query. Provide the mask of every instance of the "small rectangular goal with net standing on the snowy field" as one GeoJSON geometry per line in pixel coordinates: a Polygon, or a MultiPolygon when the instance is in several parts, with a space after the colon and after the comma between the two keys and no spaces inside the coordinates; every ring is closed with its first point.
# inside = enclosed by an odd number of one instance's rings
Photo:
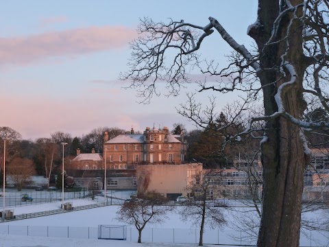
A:
{"type": "Polygon", "coordinates": [[[111,226],[111,225],[99,225],[98,226],[98,238],[99,239],[127,239],[127,226],[111,226]]]}

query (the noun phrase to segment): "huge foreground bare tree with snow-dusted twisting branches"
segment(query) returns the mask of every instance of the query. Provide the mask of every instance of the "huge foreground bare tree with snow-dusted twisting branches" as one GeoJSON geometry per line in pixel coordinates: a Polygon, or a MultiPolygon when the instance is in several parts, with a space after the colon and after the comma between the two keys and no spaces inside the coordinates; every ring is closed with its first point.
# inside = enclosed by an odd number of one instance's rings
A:
{"type": "MultiPolygon", "coordinates": [[[[199,91],[241,92],[235,113],[248,113],[249,121],[228,141],[262,133],[264,201],[257,246],[299,245],[303,174],[310,160],[304,132],[329,127],[328,121],[303,117],[308,102],[329,111],[328,9],[326,0],[258,0],[257,20],[247,30],[256,42],[255,51],[237,43],[212,17],[203,26],[143,19],[138,27],[141,36],[131,44],[130,70],[121,75],[132,80],[131,87],[140,89],[146,101],[158,93],[156,83],[161,80],[167,82],[169,93],[178,95],[182,83],[191,81],[186,73],[190,64],[225,78],[199,82],[199,91]],[[197,54],[214,32],[233,49],[223,69],[197,54]],[[171,58],[169,63],[166,57],[171,58]],[[258,114],[246,110],[260,99],[263,110],[258,114]]],[[[189,99],[182,115],[198,126],[209,124],[216,115],[215,104],[203,110],[193,95],[189,99]]]]}

